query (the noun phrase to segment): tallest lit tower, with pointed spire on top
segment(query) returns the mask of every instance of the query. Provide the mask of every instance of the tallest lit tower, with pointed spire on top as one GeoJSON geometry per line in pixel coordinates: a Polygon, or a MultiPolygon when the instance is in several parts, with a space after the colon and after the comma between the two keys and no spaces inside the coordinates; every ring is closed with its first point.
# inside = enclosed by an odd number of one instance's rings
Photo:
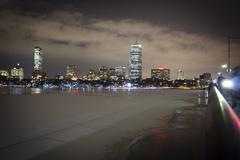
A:
{"type": "Polygon", "coordinates": [[[131,45],[128,76],[130,80],[142,79],[142,46],[137,42],[131,45]]]}

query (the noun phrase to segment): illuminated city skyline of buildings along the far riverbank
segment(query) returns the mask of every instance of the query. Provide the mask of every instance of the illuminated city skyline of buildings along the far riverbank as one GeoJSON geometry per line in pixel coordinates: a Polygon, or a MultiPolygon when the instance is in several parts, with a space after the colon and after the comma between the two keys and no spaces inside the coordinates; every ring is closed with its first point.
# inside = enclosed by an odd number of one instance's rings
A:
{"type": "MultiPolygon", "coordinates": [[[[42,76],[42,74],[44,74],[44,75],[46,74],[46,76],[47,76],[47,73],[43,72],[43,52],[42,52],[42,48],[39,47],[39,46],[34,47],[33,55],[34,55],[33,56],[34,63],[33,63],[32,75],[30,77],[24,76],[24,68],[21,68],[20,72],[22,72],[22,73],[20,73],[21,74],[20,79],[23,79],[23,78],[33,79],[34,76],[38,76],[38,75],[42,76]]],[[[226,65],[226,64],[224,64],[224,65],[226,65]]],[[[19,68],[20,63],[18,62],[16,64],[16,66],[19,68]]],[[[8,74],[8,75],[6,75],[7,77],[14,77],[13,74],[12,74],[12,70],[15,70],[16,66],[14,66],[13,68],[9,68],[9,69],[6,69],[6,70],[1,70],[1,71],[6,72],[8,74]]],[[[157,78],[157,79],[163,79],[163,80],[174,80],[174,79],[170,79],[170,69],[163,68],[163,67],[157,67],[157,69],[152,68],[151,72],[150,72],[150,77],[142,78],[142,45],[139,44],[137,41],[134,44],[131,45],[131,52],[130,52],[130,56],[129,56],[129,65],[128,65],[128,73],[125,73],[125,71],[122,71],[122,70],[126,69],[125,66],[114,66],[114,67],[113,66],[98,66],[97,68],[98,68],[97,70],[101,70],[101,68],[104,68],[104,69],[109,70],[109,71],[111,69],[115,68],[114,70],[116,70],[116,71],[114,71],[114,72],[116,72],[116,73],[119,72],[119,71],[124,72],[124,77],[126,79],[129,79],[129,80],[137,80],[137,79],[141,80],[141,79],[145,79],[145,78],[153,78],[153,79],[157,78]],[[160,73],[162,71],[164,71],[164,72],[160,73]],[[166,72],[166,75],[164,74],[165,72],[166,72]],[[153,74],[156,74],[156,75],[153,76],[153,74]]],[[[53,77],[49,77],[49,78],[50,79],[55,79],[57,77],[58,78],[59,77],[60,78],[65,77],[65,79],[72,79],[72,80],[73,79],[74,80],[86,79],[86,77],[88,77],[89,72],[91,72],[91,71],[95,72],[96,70],[93,69],[93,68],[89,68],[87,73],[80,73],[77,69],[77,65],[70,64],[70,65],[66,66],[66,70],[65,70],[64,74],[62,74],[62,75],[61,74],[56,74],[53,77]]],[[[183,72],[182,70],[178,70],[177,71],[177,78],[175,78],[175,79],[176,80],[179,80],[179,79],[184,80],[185,78],[179,78],[179,71],[183,72]]],[[[6,73],[2,73],[2,74],[5,75],[6,73]]],[[[122,73],[120,73],[120,74],[122,74],[122,73]]],[[[175,76],[173,76],[173,77],[175,77],[175,76]]],[[[183,77],[184,77],[184,72],[183,72],[183,77]]],[[[189,79],[192,79],[192,78],[195,79],[197,77],[198,76],[195,76],[195,77],[191,77],[189,79]]]]}

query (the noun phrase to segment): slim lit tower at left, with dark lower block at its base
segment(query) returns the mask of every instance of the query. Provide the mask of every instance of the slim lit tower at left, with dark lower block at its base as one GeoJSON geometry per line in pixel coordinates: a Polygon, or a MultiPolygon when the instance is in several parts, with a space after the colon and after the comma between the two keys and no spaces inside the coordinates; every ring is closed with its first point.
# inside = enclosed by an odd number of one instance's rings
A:
{"type": "Polygon", "coordinates": [[[32,82],[41,82],[47,80],[47,74],[43,72],[43,53],[42,48],[34,47],[34,67],[32,72],[32,82]]]}

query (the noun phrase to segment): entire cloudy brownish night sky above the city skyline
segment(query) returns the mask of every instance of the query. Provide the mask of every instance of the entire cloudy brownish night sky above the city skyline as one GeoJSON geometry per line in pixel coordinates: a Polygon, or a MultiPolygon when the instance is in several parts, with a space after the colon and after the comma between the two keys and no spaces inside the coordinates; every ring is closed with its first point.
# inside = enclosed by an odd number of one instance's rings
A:
{"type": "MultiPolygon", "coordinates": [[[[186,78],[213,75],[227,62],[227,37],[240,37],[237,1],[1,0],[0,69],[20,62],[33,69],[33,48],[43,48],[43,70],[82,75],[98,66],[128,66],[130,45],[143,46],[143,76],[166,67],[186,78]]],[[[240,40],[232,41],[232,66],[240,64],[240,40]]]]}

